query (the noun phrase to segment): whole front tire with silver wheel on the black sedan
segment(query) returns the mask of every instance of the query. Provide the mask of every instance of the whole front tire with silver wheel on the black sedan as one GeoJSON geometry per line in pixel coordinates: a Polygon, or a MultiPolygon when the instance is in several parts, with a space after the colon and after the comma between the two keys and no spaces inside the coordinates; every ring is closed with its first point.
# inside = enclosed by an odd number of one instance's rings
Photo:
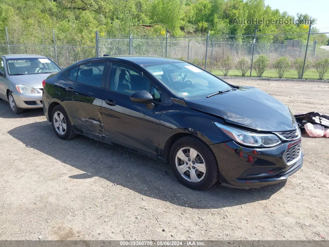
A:
{"type": "Polygon", "coordinates": [[[213,151],[193,136],[182,137],[172,145],[169,163],[177,179],[194,190],[208,189],[219,177],[213,151]]]}

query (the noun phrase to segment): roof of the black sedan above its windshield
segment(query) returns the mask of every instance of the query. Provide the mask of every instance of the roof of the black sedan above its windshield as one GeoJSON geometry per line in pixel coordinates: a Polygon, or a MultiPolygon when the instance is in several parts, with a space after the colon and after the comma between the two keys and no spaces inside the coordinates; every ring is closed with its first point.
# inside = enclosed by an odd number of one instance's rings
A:
{"type": "Polygon", "coordinates": [[[105,57],[127,60],[136,63],[138,65],[184,62],[182,60],[175,58],[156,57],[156,56],[105,56],[105,57]]]}

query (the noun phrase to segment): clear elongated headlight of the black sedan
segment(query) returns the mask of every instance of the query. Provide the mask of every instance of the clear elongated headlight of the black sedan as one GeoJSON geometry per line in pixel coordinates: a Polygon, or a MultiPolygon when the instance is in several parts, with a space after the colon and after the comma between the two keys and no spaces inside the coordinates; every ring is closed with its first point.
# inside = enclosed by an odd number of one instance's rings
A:
{"type": "Polygon", "coordinates": [[[215,125],[233,140],[246,146],[273,147],[281,143],[279,137],[274,134],[257,134],[231,126],[228,127],[217,122],[215,122],[215,125]]]}

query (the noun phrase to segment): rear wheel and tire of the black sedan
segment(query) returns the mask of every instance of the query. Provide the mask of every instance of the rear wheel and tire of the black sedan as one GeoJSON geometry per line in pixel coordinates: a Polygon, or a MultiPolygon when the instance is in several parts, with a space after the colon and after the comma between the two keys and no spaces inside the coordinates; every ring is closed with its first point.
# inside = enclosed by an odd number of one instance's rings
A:
{"type": "Polygon", "coordinates": [[[73,131],[68,115],[61,105],[53,108],[51,120],[54,132],[59,138],[68,140],[76,137],[77,134],[73,131]]]}

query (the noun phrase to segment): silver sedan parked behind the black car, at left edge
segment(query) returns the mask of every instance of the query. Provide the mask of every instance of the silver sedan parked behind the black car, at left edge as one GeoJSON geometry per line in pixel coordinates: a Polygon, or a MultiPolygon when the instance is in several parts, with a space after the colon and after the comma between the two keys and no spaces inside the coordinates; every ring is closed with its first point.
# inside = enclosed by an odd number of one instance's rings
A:
{"type": "Polygon", "coordinates": [[[61,68],[50,58],[38,55],[0,55],[0,98],[13,113],[42,108],[42,81],[61,68]]]}

